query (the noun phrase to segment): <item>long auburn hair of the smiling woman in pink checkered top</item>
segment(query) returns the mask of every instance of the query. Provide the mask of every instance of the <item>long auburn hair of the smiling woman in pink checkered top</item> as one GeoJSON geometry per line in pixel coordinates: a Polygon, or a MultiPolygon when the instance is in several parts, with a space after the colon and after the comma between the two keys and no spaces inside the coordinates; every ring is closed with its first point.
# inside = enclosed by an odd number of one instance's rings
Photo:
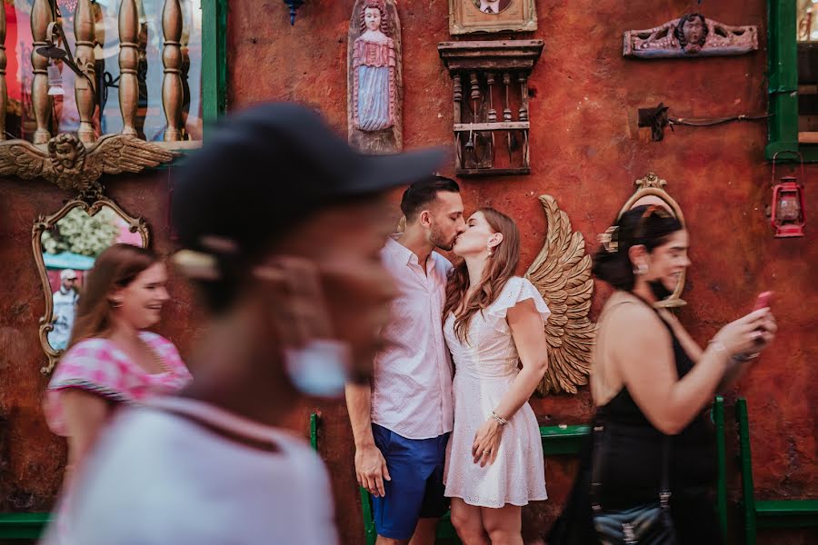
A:
{"type": "Polygon", "coordinates": [[[85,277],[68,347],[109,332],[113,322],[108,296],[115,289],[134,282],[141,272],[158,262],[156,253],[131,244],[114,244],[100,253],[94,268],[85,277]]]}

